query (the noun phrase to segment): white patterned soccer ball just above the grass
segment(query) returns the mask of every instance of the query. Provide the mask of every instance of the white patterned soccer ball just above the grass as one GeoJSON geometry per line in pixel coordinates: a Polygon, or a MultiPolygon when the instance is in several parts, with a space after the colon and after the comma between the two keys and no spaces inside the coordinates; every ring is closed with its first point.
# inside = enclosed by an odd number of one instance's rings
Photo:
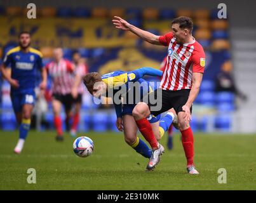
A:
{"type": "Polygon", "coordinates": [[[86,136],[76,138],[73,149],[77,156],[88,157],[93,153],[93,141],[86,136]]]}

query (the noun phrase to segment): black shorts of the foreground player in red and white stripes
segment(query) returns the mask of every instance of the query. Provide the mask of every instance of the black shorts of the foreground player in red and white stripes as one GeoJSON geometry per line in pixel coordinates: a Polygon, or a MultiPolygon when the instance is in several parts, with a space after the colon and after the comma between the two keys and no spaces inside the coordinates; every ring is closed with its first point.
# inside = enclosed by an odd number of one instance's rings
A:
{"type": "MultiPolygon", "coordinates": [[[[190,89],[180,89],[177,91],[170,91],[164,89],[156,89],[143,98],[142,101],[149,105],[151,114],[154,116],[166,112],[170,108],[174,108],[176,114],[182,112],[182,107],[187,103],[190,89]]],[[[192,113],[192,107],[190,109],[192,113]]]]}

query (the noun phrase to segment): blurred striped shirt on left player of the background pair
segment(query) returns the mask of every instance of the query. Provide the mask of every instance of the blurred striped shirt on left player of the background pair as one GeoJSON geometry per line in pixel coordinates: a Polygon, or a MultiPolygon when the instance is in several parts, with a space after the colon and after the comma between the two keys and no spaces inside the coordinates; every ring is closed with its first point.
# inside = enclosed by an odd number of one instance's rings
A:
{"type": "Polygon", "coordinates": [[[62,59],[60,62],[50,62],[46,70],[51,76],[51,91],[53,94],[67,95],[73,86],[73,67],[71,62],[62,59]]]}

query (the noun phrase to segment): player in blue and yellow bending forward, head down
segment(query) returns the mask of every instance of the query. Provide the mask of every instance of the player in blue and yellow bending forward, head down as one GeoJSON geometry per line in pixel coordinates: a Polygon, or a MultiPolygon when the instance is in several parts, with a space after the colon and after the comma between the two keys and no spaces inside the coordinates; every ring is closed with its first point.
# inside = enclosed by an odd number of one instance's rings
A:
{"type": "MultiPolygon", "coordinates": [[[[114,89],[112,98],[116,98],[118,91],[121,91],[123,100],[125,100],[126,103],[122,105],[121,98],[119,97],[118,100],[113,100],[117,116],[116,126],[119,131],[124,131],[126,143],[134,148],[136,152],[147,158],[151,157],[151,149],[147,147],[144,141],[137,137],[138,128],[132,116],[132,110],[136,103],[128,103],[128,101],[131,101],[129,97],[131,96],[134,98],[135,94],[129,94],[128,91],[134,87],[133,82],[139,82],[139,99],[141,99],[145,94],[151,91],[149,82],[142,79],[142,77],[144,75],[159,76],[161,74],[162,72],[160,70],[142,68],[130,72],[114,71],[102,76],[97,72],[92,72],[90,74],[86,74],[84,77],[84,84],[88,91],[91,93],[91,95],[97,98],[100,98],[104,95],[107,97],[111,96],[111,89],[114,89]],[[117,89],[117,87],[121,86],[125,86],[126,88],[124,90],[119,88],[117,89]]],[[[170,110],[170,112],[168,112],[165,117],[162,117],[161,119],[161,115],[158,115],[157,117],[148,117],[158,140],[161,139],[165,131],[167,131],[169,128],[170,124],[172,124],[174,114],[175,112],[170,110]]]]}

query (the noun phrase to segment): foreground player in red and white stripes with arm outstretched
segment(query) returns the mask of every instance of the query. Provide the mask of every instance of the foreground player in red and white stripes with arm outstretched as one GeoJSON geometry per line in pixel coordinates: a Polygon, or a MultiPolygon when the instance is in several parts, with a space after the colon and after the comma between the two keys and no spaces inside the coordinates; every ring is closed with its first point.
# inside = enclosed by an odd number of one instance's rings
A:
{"type": "MultiPolygon", "coordinates": [[[[174,108],[178,115],[179,129],[182,133],[182,145],[187,158],[187,172],[198,174],[194,166],[194,138],[189,122],[191,121],[192,103],[196,99],[205,70],[205,52],[203,47],[192,37],[193,23],[191,18],[180,16],[172,22],[172,32],[164,36],[156,36],[126,22],[119,16],[112,20],[117,29],[130,30],[145,41],[168,46],[168,59],[161,84],[149,97],[156,96],[162,108],[152,111],[153,105],[140,102],[133,109],[133,116],[138,129],[151,144],[153,150],[148,168],[154,169],[160,160],[164,148],[156,140],[152,127],[146,117],[158,115],[174,108]],[[161,96],[158,96],[161,94],[161,96]]],[[[150,101],[150,100],[149,100],[150,101]]]]}

